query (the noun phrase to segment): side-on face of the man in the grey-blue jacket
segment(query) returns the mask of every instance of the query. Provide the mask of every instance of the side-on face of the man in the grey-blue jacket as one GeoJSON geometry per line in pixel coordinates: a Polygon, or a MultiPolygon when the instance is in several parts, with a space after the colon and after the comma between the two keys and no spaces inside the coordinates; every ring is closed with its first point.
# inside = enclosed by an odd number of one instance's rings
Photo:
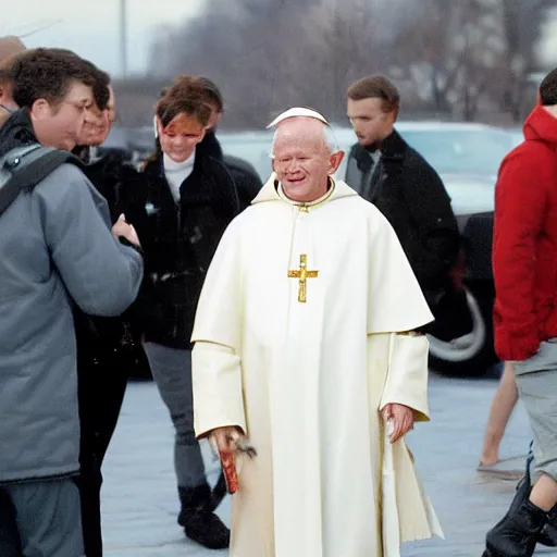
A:
{"type": "Polygon", "coordinates": [[[79,144],[84,125],[95,120],[92,107],[92,89],[81,82],[73,82],[57,104],[38,99],[30,111],[37,139],[45,147],[71,151],[79,144]]]}

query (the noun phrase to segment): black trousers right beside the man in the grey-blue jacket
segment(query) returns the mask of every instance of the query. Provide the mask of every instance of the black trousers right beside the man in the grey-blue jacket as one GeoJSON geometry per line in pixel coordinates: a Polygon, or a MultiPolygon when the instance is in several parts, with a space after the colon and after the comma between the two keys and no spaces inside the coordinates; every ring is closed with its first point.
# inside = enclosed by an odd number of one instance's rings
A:
{"type": "Polygon", "coordinates": [[[129,359],[112,351],[104,358],[78,358],[82,524],[87,557],[102,557],[101,466],[124,401],[129,359]]]}

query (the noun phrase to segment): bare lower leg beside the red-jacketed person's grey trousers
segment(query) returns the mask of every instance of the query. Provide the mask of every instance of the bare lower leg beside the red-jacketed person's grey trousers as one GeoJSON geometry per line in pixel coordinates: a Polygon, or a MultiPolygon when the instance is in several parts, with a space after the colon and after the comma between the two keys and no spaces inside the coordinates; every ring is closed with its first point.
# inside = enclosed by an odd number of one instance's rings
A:
{"type": "Polygon", "coordinates": [[[480,466],[493,466],[499,460],[499,445],[517,401],[518,389],[512,364],[505,362],[499,386],[490,409],[480,466]]]}

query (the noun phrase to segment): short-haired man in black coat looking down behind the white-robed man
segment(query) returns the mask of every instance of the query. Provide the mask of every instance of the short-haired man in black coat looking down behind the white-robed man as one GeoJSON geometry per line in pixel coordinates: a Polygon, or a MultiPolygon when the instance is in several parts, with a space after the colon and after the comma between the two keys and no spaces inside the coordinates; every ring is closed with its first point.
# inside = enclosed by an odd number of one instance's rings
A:
{"type": "Polygon", "coordinates": [[[459,251],[458,226],[437,173],[396,132],[400,97],[385,77],[348,88],[347,113],[358,144],[346,182],[386,216],[435,313],[459,251]]]}

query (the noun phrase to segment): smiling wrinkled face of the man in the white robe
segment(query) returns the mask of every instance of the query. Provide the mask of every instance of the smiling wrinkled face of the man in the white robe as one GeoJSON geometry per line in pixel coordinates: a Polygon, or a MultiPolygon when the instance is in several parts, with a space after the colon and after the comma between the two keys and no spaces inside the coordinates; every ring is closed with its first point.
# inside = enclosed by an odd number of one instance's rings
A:
{"type": "Polygon", "coordinates": [[[293,117],[278,125],[273,170],[289,199],[309,202],[322,197],[341,160],[342,153],[331,154],[319,121],[293,117]]]}

